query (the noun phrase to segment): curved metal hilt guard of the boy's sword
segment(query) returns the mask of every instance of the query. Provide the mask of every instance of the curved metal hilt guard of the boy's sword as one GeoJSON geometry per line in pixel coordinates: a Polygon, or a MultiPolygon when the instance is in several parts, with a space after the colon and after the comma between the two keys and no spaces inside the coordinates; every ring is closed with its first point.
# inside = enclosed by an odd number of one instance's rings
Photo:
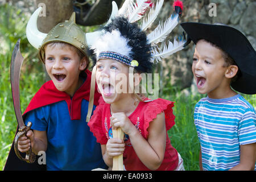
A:
{"type": "Polygon", "coordinates": [[[35,154],[32,152],[32,147],[30,147],[30,149],[26,152],[26,158],[23,158],[18,150],[18,140],[20,137],[23,137],[24,135],[26,135],[26,133],[30,130],[32,126],[31,122],[27,123],[27,126],[22,127],[21,129],[19,129],[19,132],[16,134],[16,137],[14,139],[14,151],[16,153],[16,155],[18,156],[18,158],[20,160],[24,160],[27,163],[34,163],[36,156],[35,154]]]}

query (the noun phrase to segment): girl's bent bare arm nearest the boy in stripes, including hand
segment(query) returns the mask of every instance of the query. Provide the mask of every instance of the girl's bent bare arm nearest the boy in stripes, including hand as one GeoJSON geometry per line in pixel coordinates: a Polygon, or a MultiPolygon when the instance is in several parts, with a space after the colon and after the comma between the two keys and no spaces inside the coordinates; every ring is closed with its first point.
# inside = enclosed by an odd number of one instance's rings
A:
{"type": "Polygon", "coordinates": [[[124,113],[113,113],[113,126],[121,127],[129,135],[131,144],[141,162],[149,169],[156,170],[163,162],[166,150],[166,123],[164,113],[150,122],[148,139],[144,139],[124,113]]]}

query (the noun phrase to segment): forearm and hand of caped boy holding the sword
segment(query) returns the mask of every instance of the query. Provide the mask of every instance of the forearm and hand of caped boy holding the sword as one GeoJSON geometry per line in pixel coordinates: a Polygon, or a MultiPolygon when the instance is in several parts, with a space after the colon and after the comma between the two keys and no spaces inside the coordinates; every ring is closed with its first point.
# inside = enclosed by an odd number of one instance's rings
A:
{"type": "Polygon", "coordinates": [[[26,152],[32,146],[32,152],[38,154],[39,151],[47,150],[47,134],[46,131],[30,130],[26,137],[20,137],[18,141],[18,149],[20,152],[26,152]]]}

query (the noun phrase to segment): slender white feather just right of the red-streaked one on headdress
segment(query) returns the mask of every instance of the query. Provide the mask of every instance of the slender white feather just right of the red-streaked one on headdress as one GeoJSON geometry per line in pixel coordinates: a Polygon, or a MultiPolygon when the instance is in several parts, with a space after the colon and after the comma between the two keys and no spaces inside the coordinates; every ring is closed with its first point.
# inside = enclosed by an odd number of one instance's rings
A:
{"type": "Polygon", "coordinates": [[[147,18],[145,17],[142,22],[141,29],[143,31],[147,30],[148,27],[151,26],[151,24],[154,22],[156,17],[158,16],[162,6],[163,6],[164,0],[160,0],[156,2],[155,9],[150,9],[150,12],[147,15],[147,18]]]}

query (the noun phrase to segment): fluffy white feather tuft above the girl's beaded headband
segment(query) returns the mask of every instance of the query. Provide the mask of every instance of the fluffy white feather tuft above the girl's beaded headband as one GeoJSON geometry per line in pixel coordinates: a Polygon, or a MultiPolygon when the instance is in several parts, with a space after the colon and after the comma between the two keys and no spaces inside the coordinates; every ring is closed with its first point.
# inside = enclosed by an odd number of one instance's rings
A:
{"type": "Polygon", "coordinates": [[[112,32],[105,32],[100,36],[92,45],[96,56],[100,55],[103,51],[112,51],[130,57],[131,47],[128,46],[128,40],[124,38],[118,30],[112,32]]]}

